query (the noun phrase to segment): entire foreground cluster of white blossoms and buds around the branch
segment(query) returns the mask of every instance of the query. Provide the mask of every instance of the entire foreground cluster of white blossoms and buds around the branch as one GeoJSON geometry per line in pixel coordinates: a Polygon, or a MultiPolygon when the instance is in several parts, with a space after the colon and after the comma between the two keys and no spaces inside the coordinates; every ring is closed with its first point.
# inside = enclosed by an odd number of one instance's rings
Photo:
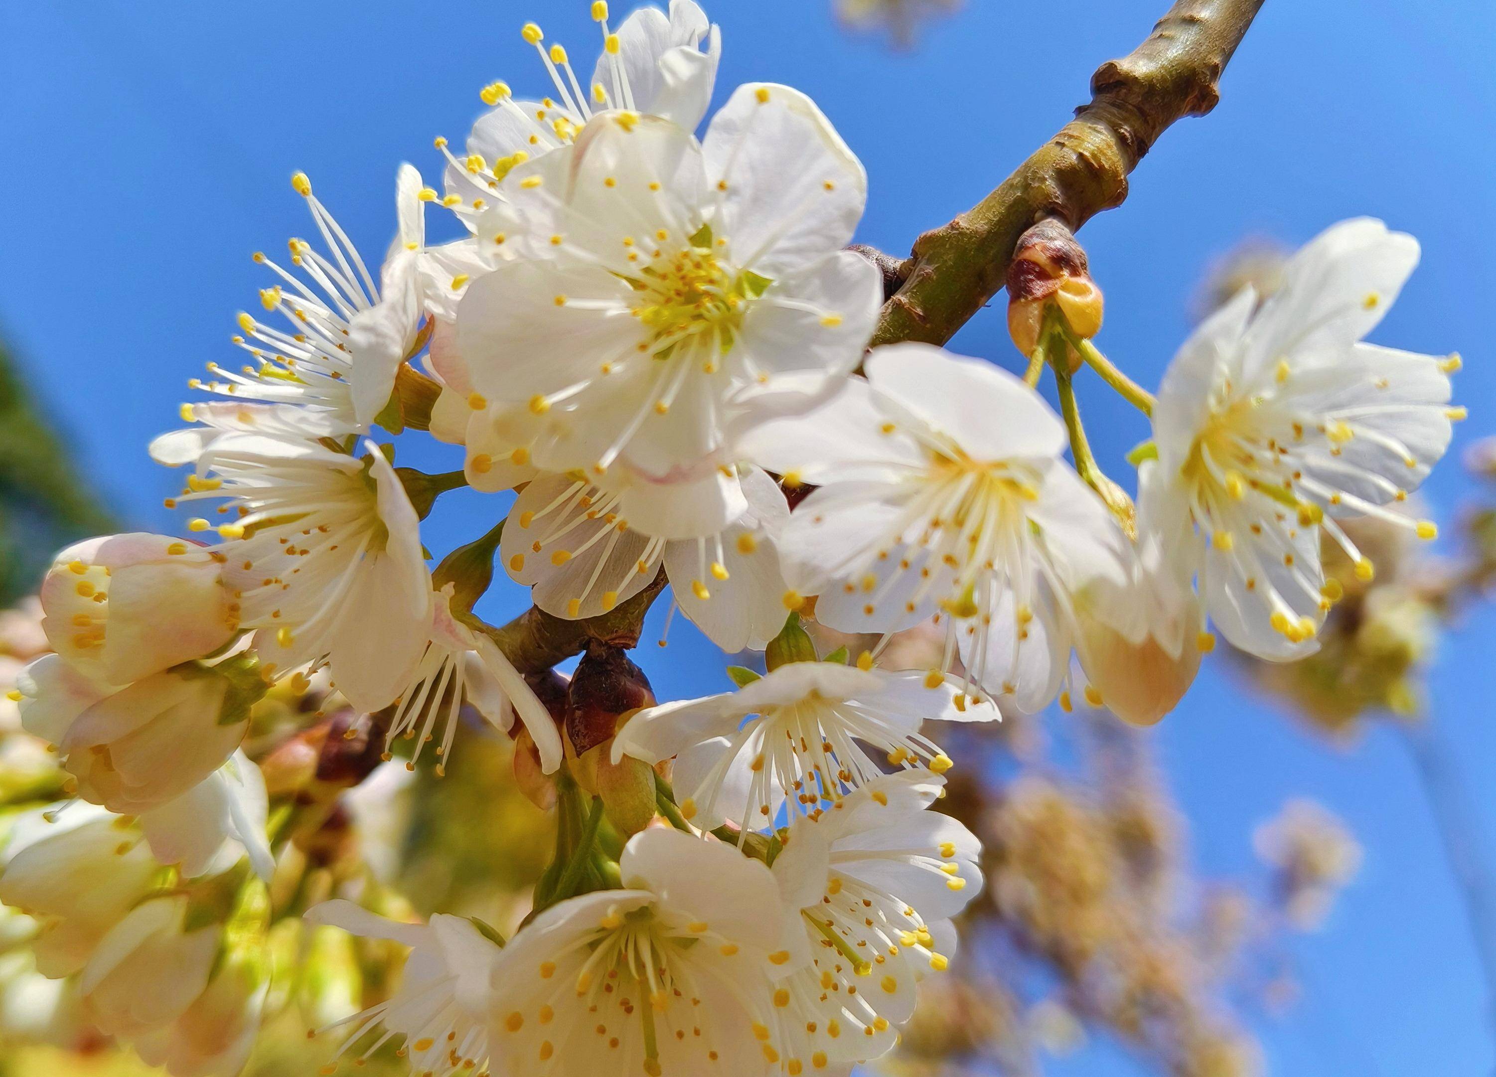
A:
{"type": "MultiPolygon", "coordinates": [[[[43,972],[79,974],[100,1028],[177,1074],[238,1068],[265,998],[272,844],[241,745],[272,684],[323,676],[386,758],[438,740],[438,772],[470,708],[570,812],[507,941],[347,898],[308,911],[411,948],[346,1050],[398,1037],[422,1074],[847,1073],[892,1049],[981,887],[977,839],[931,811],[953,763],[923,724],[1077,693],[1156,721],[1207,619],[1306,654],[1336,598],[1321,533],[1370,573],[1336,519],[1402,519],[1388,503],[1450,440],[1450,362],[1361,343],[1417,245],[1351,221],[1185,346],[1119,512],[1031,383],[923,344],[865,353],[883,280],[847,244],[866,175],[814,102],[744,85],[697,138],[721,48],[702,10],[592,16],[589,85],[528,24],[555,96],[485,87],[464,151],[437,141],[444,191],[399,169],[377,280],[293,178],[322,245],[254,256],[251,365],[211,366],[211,399],[151,446],[188,468],[169,507],[214,506],[187,531],[217,541],[94,540],[43,585],[55,654],[21,721],[93,806],[16,829],[0,900],[45,918],[43,972]],[[426,242],[428,205],[458,239],[426,242]],[[462,468],[393,467],[380,431],[407,428],[462,468]],[[607,616],[663,573],[766,672],[560,728],[473,613],[491,565],[428,567],[420,521],[459,485],[518,491],[471,549],[497,546],[551,618],[607,616]],[[823,658],[802,615],[884,640],[932,622],[942,654],[823,658]]],[[[1085,302],[1062,284],[1032,311],[1064,377],[1085,302]]]]}

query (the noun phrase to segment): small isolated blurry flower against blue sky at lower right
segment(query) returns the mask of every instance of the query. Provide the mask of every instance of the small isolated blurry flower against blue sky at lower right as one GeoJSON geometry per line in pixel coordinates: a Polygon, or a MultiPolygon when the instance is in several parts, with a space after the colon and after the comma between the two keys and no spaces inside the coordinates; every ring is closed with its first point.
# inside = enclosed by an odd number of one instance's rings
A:
{"type": "Polygon", "coordinates": [[[1302,930],[1318,927],[1334,898],[1361,868],[1361,847],[1345,824],[1312,800],[1290,800],[1252,835],[1276,872],[1278,899],[1302,930]]]}

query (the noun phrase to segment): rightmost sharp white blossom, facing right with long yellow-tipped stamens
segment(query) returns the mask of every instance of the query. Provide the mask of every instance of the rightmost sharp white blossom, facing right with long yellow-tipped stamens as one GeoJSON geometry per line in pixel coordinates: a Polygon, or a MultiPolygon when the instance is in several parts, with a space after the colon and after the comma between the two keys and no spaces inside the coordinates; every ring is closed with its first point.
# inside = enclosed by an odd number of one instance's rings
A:
{"type": "Polygon", "coordinates": [[[1248,287],[1174,356],[1153,411],[1158,461],[1140,474],[1140,527],[1194,576],[1233,646],[1312,652],[1337,597],[1319,536],[1361,579],[1372,562],[1336,518],[1369,515],[1421,537],[1433,524],[1387,506],[1450,444],[1453,358],[1366,344],[1418,260],[1381,221],[1336,224],[1284,268],[1261,310],[1248,287]]]}

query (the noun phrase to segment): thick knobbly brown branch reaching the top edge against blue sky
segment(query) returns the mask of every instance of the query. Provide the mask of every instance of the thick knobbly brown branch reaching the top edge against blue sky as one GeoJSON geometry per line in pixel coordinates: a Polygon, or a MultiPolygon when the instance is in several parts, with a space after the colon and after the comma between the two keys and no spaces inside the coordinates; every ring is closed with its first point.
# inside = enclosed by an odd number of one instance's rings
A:
{"type": "Polygon", "coordinates": [[[1001,187],[922,235],[872,344],[944,344],[1002,287],[1014,244],[1044,217],[1071,230],[1126,197],[1128,174],[1164,130],[1204,115],[1263,0],[1177,0],[1131,55],[1091,79],[1092,100],[1001,187]]]}

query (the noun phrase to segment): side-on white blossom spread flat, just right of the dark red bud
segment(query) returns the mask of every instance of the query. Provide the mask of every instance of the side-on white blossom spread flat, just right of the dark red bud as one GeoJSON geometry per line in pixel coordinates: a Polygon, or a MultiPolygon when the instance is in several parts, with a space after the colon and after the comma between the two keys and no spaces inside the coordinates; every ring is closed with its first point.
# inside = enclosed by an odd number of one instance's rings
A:
{"type": "Polygon", "coordinates": [[[747,827],[814,814],[895,766],[951,760],[920,733],[926,719],[993,721],[990,703],[968,703],[944,679],[841,663],[787,663],[745,688],[664,703],[636,714],[613,742],[624,755],[672,755],[681,811],[696,826],[747,827]],[[959,700],[959,703],[957,703],[959,700]]]}

